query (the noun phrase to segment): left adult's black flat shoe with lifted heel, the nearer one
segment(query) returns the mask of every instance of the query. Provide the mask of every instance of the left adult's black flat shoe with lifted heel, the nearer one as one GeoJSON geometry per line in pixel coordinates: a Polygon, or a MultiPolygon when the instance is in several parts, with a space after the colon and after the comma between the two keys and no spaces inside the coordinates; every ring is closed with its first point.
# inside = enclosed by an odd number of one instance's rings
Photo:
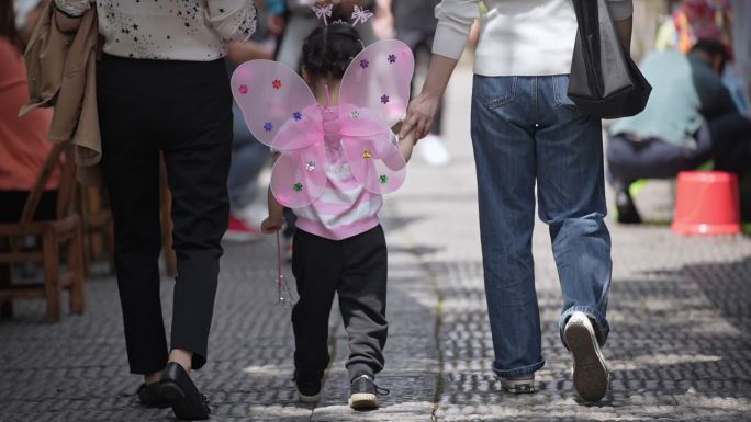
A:
{"type": "Polygon", "coordinates": [[[197,421],[209,419],[209,400],[190,379],[188,372],[178,363],[167,365],[159,383],[161,396],[169,402],[177,419],[197,421]]]}

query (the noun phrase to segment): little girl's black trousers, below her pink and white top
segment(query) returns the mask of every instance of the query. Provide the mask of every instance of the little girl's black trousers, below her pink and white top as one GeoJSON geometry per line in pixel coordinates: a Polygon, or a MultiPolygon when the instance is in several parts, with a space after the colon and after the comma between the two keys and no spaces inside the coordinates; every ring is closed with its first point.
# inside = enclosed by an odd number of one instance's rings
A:
{"type": "Polygon", "coordinates": [[[349,335],[349,378],[383,369],[388,256],[383,229],[329,240],[298,229],[292,253],[300,299],[292,310],[294,366],[321,378],[328,366],[328,317],[334,294],[349,335]]]}

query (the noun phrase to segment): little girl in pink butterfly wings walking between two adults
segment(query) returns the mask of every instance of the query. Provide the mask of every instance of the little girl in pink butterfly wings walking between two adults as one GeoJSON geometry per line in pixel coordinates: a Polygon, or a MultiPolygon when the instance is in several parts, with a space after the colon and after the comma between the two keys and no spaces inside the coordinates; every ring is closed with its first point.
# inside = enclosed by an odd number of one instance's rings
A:
{"type": "Polygon", "coordinates": [[[293,98],[304,96],[294,90],[283,91],[295,83],[293,78],[269,75],[283,75],[281,65],[259,62],[233,77],[233,91],[251,130],[260,134],[261,141],[282,150],[269,190],[269,216],[261,229],[266,233],[280,230],[284,206],[293,208],[298,217],[292,273],[300,299],[292,310],[292,324],[294,378],[303,402],[321,398],[335,294],[349,334],[349,406],[377,408],[377,394],[382,391],[373,380],[383,369],[389,328],[388,256],[378,212],[383,204],[381,193],[401,184],[414,145],[412,136],[399,142],[390,128],[395,113],[403,114],[406,107],[414,58],[399,42],[377,44],[363,50],[357,31],[345,23],[314,30],[304,41],[302,57],[302,75],[315,95],[314,105],[303,107],[302,101],[299,111],[273,104],[276,98],[294,102],[293,98]],[[271,80],[269,85],[266,81],[271,80]],[[256,102],[247,99],[254,89],[256,102]],[[264,102],[262,109],[258,102],[264,102]],[[289,113],[283,124],[267,116],[274,109],[289,113]],[[300,129],[305,122],[312,126],[300,129]],[[304,141],[311,137],[317,138],[304,141]],[[309,152],[300,148],[309,144],[309,152]],[[320,182],[315,181],[317,172],[320,182]]]}

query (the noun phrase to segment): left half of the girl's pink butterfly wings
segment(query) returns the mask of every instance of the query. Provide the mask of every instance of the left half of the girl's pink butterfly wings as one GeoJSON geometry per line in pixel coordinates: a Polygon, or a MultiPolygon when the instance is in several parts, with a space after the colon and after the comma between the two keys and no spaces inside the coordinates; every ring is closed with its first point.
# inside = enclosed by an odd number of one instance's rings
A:
{"type": "Polygon", "coordinates": [[[290,208],[315,202],[326,185],[321,111],[310,88],[290,68],[251,60],[232,76],[232,92],[250,133],[281,152],[271,172],[271,191],[290,208]]]}

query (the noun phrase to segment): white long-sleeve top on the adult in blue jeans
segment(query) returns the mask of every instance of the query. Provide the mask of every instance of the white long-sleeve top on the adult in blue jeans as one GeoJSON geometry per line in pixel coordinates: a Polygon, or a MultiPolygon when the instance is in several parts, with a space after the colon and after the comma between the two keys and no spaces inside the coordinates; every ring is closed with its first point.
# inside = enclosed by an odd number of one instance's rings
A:
{"type": "MultiPolygon", "coordinates": [[[[634,13],[632,0],[608,0],[614,21],[634,13]]],[[[571,71],[576,15],[571,0],[444,0],[436,7],[433,53],[458,59],[470,27],[482,28],[474,72],[483,76],[562,75],[571,71]],[[480,15],[480,2],[487,14],[480,15]]]]}

